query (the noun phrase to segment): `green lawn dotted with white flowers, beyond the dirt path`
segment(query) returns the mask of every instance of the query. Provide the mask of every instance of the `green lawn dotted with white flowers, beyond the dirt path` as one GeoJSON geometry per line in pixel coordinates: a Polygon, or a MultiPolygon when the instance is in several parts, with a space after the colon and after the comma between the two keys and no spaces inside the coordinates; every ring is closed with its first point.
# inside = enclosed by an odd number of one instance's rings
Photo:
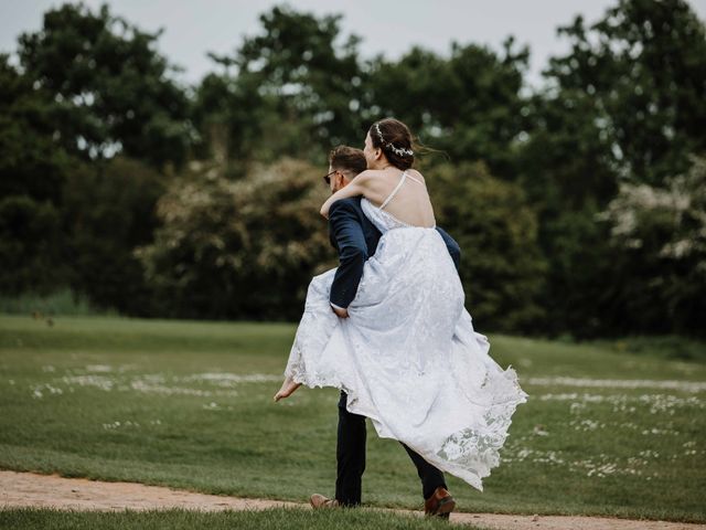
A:
{"type": "MultiPolygon", "coordinates": [[[[331,495],[338,392],[271,402],[293,332],[0,316],[0,468],[297,501],[331,495]]],[[[530,401],[484,492],[450,478],[458,509],[706,521],[702,344],[674,356],[665,349],[678,344],[644,339],[639,348],[490,339],[530,401]]],[[[366,505],[420,507],[411,462],[372,426],[364,479],[366,505]]]]}

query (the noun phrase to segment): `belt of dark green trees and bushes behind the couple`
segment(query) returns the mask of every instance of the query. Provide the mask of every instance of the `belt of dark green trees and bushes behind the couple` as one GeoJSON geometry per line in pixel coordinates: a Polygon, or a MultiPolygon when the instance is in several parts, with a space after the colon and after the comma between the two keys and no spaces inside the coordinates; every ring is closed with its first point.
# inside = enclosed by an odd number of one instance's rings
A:
{"type": "Polygon", "coordinates": [[[148,33],[65,3],[0,55],[0,293],[126,315],[296,319],[335,266],[329,149],[402,119],[482,329],[704,335],[706,31],[619,0],[543,85],[530,50],[363,59],[341,17],[276,7],[194,86],[148,33]]]}

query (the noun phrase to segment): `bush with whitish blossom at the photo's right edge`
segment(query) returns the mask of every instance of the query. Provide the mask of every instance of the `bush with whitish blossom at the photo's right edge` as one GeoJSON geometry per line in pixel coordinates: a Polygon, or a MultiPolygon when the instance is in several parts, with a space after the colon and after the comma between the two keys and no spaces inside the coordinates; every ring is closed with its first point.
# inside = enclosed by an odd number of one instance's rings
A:
{"type": "Polygon", "coordinates": [[[660,188],[622,184],[605,219],[622,251],[625,328],[704,335],[706,159],[660,188]]]}

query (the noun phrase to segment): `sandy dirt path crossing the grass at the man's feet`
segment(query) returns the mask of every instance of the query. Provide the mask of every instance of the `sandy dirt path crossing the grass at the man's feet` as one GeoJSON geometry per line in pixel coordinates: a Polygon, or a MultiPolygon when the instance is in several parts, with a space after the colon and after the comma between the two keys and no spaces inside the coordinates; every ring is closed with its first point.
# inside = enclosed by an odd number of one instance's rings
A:
{"type": "MultiPolygon", "coordinates": [[[[147,510],[185,508],[194,510],[263,510],[308,507],[298,502],[239,499],[217,495],[145,486],[133,483],[103,483],[85,478],[0,470],[0,508],[35,507],[74,510],[147,510]]],[[[395,510],[404,513],[418,513],[395,510]]],[[[631,521],[602,517],[507,516],[496,513],[452,513],[456,523],[473,523],[499,530],[677,530],[706,529],[706,524],[665,521],[631,521]]]]}

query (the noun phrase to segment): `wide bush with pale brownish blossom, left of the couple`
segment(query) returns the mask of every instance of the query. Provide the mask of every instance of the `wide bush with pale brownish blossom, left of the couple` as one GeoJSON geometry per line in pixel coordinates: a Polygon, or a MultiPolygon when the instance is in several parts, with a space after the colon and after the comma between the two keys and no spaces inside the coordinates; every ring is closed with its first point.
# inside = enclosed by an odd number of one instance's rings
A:
{"type": "Polygon", "coordinates": [[[161,314],[281,319],[301,315],[313,274],[335,266],[321,168],[256,165],[238,180],[215,167],[176,179],[160,199],[163,225],[137,255],[161,314]]]}

